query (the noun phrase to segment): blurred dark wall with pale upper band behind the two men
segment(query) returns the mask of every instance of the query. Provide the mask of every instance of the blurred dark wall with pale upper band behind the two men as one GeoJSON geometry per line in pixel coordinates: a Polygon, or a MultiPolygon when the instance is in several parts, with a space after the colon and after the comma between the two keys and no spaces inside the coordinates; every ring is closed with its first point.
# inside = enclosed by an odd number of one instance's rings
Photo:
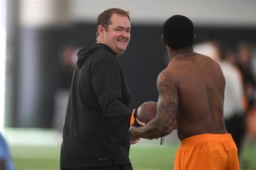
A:
{"type": "MultiPolygon", "coordinates": [[[[113,6],[131,12],[130,45],[118,58],[130,87],[131,109],[145,101],[157,101],[157,76],[166,67],[161,25],[171,15],[179,13],[193,20],[197,42],[215,34],[231,48],[240,41],[256,44],[252,36],[256,34],[255,1],[21,0],[18,4],[10,3],[16,10],[9,9],[12,24],[7,37],[6,97],[10,99],[6,108],[8,115],[12,115],[9,126],[52,128],[56,117],[55,95],[60,89],[69,89],[72,77],[62,61],[63,52],[95,42],[95,20],[100,12],[113,6]]],[[[61,114],[65,115],[65,111],[61,114]]]]}

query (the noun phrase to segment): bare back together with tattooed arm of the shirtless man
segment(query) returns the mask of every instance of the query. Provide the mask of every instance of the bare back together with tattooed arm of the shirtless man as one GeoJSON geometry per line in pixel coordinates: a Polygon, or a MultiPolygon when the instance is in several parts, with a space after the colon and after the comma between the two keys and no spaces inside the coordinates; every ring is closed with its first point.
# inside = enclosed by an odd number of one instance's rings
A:
{"type": "Polygon", "coordinates": [[[157,115],[133,129],[133,137],[153,139],[177,128],[180,140],[197,134],[227,133],[223,119],[225,79],[217,62],[193,53],[176,57],[158,75],[157,115]]]}

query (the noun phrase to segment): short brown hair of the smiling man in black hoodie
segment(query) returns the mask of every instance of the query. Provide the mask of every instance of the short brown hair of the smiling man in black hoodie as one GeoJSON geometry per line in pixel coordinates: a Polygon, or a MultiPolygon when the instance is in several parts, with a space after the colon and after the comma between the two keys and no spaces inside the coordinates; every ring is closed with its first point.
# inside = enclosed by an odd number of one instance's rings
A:
{"type": "MultiPolygon", "coordinates": [[[[104,29],[107,30],[107,28],[109,27],[109,25],[111,24],[111,16],[113,15],[113,13],[116,13],[118,15],[122,15],[122,16],[126,16],[129,20],[130,20],[130,12],[129,11],[125,11],[119,8],[110,8],[107,9],[105,11],[103,11],[102,13],[100,13],[100,15],[97,18],[97,28],[99,25],[102,25],[104,27],[104,29]]],[[[99,36],[98,33],[98,29],[97,29],[97,34],[96,36],[99,36]]]]}

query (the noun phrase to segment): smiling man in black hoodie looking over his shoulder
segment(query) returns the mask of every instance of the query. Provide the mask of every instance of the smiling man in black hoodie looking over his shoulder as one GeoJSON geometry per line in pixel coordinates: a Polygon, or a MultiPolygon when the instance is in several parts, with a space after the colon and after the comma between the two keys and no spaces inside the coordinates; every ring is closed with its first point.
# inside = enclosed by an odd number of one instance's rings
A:
{"type": "Polygon", "coordinates": [[[97,42],[78,52],[60,168],[130,170],[130,91],[117,61],[130,41],[129,12],[107,9],[97,26],[97,42]]]}

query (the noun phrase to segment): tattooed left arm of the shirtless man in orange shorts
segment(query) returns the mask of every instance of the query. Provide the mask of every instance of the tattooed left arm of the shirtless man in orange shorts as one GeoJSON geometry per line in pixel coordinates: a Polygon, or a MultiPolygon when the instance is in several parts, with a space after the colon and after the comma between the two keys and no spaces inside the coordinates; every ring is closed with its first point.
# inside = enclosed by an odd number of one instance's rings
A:
{"type": "Polygon", "coordinates": [[[157,116],[145,126],[132,129],[130,133],[135,138],[159,138],[166,136],[174,128],[177,128],[178,83],[174,79],[172,72],[165,69],[159,74],[157,89],[159,93],[157,116]]]}

